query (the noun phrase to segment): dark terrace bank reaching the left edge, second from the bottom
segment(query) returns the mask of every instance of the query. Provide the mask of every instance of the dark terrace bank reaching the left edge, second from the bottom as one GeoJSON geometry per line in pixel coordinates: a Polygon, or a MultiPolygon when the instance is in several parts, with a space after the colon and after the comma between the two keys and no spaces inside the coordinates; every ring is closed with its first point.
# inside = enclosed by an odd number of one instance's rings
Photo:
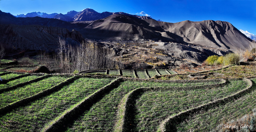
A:
{"type": "Polygon", "coordinates": [[[37,81],[43,80],[43,79],[48,78],[50,76],[52,76],[52,75],[47,74],[47,75],[44,75],[42,77],[38,77],[38,78],[33,79],[33,80],[29,80],[29,81],[26,81],[26,82],[22,82],[22,83],[16,84],[16,85],[11,86],[11,87],[2,88],[2,89],[0,89],[0,94],[3,93],[3,92],[6,92],[6,91],[10,91],[10,90],[16,89],[18,87],[22,87],[22,86],[28,85],[28,84],[33,83],[33,82],[37,82],[37,81]]]}

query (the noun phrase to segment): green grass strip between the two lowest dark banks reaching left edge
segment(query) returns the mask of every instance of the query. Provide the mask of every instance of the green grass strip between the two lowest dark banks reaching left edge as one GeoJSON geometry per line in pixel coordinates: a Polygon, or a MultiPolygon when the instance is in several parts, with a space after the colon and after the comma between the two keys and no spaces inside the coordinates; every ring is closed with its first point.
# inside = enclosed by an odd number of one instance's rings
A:
{"type": "Polygon", "coordinates": [[[0,94],[0,108],[51,88],[65,79],[67,79],[66,76],[52,76],[11,91],[3,92],[0,94]]]}

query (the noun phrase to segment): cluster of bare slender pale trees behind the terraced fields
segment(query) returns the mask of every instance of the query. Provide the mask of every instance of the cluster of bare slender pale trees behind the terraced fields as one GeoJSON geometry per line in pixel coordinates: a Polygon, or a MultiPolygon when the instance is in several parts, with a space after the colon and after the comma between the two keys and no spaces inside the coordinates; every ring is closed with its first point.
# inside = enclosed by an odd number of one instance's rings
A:
{"type": "Polygon", "coordinates": [[[74,73],[91,69],[123,69],[124,64],[115,59],[115,52],[97,43],[83,41],[80,45],[70,45],[59,38],[56,53],[40,52],[41,64],[51,69],[52,62],[58,62],[58,73],[74,73]]]}

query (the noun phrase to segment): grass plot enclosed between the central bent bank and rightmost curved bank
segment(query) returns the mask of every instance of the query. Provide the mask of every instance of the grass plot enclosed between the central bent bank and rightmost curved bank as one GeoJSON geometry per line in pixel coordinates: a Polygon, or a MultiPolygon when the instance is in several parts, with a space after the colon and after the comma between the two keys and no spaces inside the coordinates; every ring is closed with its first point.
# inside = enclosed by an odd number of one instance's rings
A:
{"type": "Polygon", "coordinates": [[[160,122],[168,116],[224,98],[246,86],[245,81],[238,80],[213,89],[145,92],[136,101],[134,131],[156,131],[160,122]]]}

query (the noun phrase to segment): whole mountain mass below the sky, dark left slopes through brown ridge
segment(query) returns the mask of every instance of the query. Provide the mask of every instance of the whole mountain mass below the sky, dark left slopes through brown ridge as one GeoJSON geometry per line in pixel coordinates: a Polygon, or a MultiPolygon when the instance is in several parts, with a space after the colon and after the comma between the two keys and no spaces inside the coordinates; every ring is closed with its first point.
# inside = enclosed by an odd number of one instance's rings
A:
{"type": "MultiPolygon", "coordinates": [[[[41,13],[36,14],[44,16],[43,13],[42,15],[41,13]]],[[[252,42],[250,38],[247,38],[236,27],[224,21],[205,20],[193,22],[187,20],[178,23],[168,23],[156,21],[147,16],[122,14],[122,12],[98,13],[92,9],[85,9],[80,13],[70,11],[67,14],[58,14],[56,16],[58,16],[58,19],[38,16],[19,18],[14,17],[10,13],[0,11],[0,24],[2,24],[0,26],[0,43],[10,47],[14,45],[14,47],[19,47],[20,49],[26,49],[27,47],[42,49],[42,44],[44,46],[45,44],[57,44],[58,37],[67,38],[70,42],[74,43],[81,42],[83,38],[147,41],[151,39],[231,50],[245,50],[252,42]],[[68,19],[70,17],[75,21],[69,22],[68,19]],[[98,19],[101,17],[105,18],[98,19]],[[64,18],[66,19],[65,21],[61,20],[64,18]],[[38,36],[41,36],[40,39],[38,36]],[[49,42],[45,40],[49,40],[49,42]]],[[[54,49],[55,47],[52,48],[54,49]]]]}

